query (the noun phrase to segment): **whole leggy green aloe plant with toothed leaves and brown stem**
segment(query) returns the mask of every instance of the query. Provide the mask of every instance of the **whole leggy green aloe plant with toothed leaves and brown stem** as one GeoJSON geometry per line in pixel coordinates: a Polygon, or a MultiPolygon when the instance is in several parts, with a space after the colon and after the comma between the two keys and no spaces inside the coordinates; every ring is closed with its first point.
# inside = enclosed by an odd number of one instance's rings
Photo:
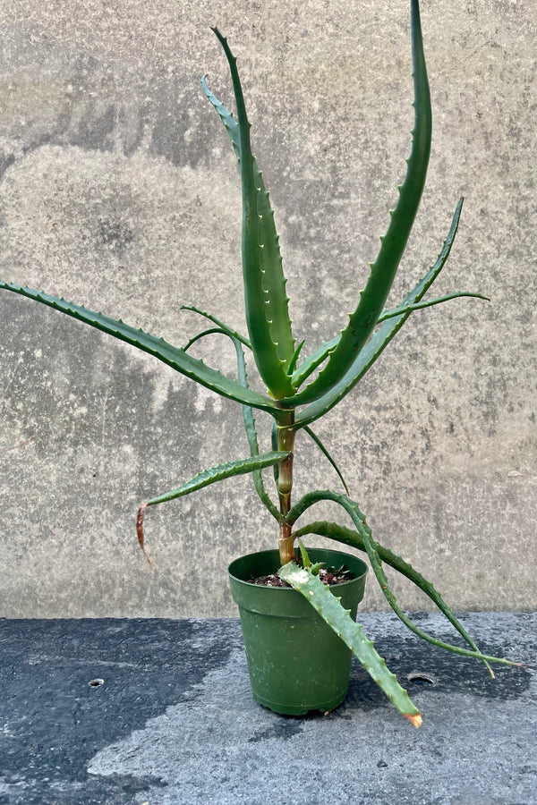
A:
{"type": "Polygon", "coordinates": [[[419,726],[421,716],[417,708],[408,698],[406,691],[396,682],[394,675],[388,672],[384,660],[378,656],[371,641],[365,638],[361,628],[352,621],[349,614],[339,606],[337,598],[317,578],[318,568],[311,566],[306,550],[303,549],[303,567],[299,567],[295,563],[294,549],[297,538],[307,533],[317,533],[364,551],[370,559],[373,572],[389,605],[412,631],[436,646],[482,660],[490,673],[492,673],[491,662],[512,664],[505,658],[482,654],[430,582],[409,563],[392,554],[388,548],[379,545],[373,538],[358,504],[348,496],[348,488],[336,462],[310,427],[311,423],[320,419],[354,389],[413,313],[457,297],[485,298],[479,293],[455,292],[423,301],[425,293],[449,256],[463,205],[463,199],[460,199],[438,258],[413,289],[406,293],[400,304],[393,309],[385,309],[388,293],[420,204],[430,157],[430,90],[423,55],[418,0],[411,0],[414,126],[405,181],[399,186],[396,208],[390,210],[388,231],[380,238],[378,256],[370,265],[370,274],[360,292],[356,308],[349,315],[340,335],[328,343],[322,343],[308,356],[303,356],[305,342],[296,343],[289,318],[286,277],[282,267],[274,214],[260,168],[251,151],[251,124],[246,113],[236,59],[226,38],[216,28],[213,30],[224,49],[231,72],[236,116],[213,95],[205,78],[201,80],[201,85],[226,127],[240,165],[243,194],[243,284],[248,337],[226,326],[209,313],[192,305],[185,305],[184,309],[192,310],[200,317],[208,319],[211,326],[192,336],[182,349],[166,343],[162,338],[126,325],[121,320],[109,318],[103,313],[83,308],[47,293],[5,282],[0,283],[0,290],[19,293],[77,318],[108,335],[132,344],[143,352],[149,352],[172,369],[190,377],[201,386],[206,386],[216,394],[241,403],[249,455],[220,464],[210,470],[203,470],[182,486],[142,504],[137,518],[137,533],[142,550],[145,553],[143,521],[148,507],[190,494],[196,489],[220,480],[251,473],[261,503],[277,521],[282,578],[310,601],[311,606],[317,609],[341,639],[353,649],[396,707],[413,724],[419,726]],[[210,368],[202,360],[192,357],[190,352],[192,344],[209,334],[225,335],[233,343],[237,358],[236,377],[226,377],[218,369],[210,368]],[[246,374],[244,350],[251,353],[260,378],[266,386],[267,394],[260,394],[251,389],[246,374]],[[317,375],[311,379],[316,370],[317,375]],[[271,418],[269,452],[260,452],[254,409],[263,411],[271,418]],[[294,436],[300,429],[311,436],[313,442],[336,468],[344,484],[345,494],[328,490],[314,491],[292,504],[294,436]],[[262,475],[262,470],[269,467],[274,470],[276,502],[269,496],[262,475]],[[349,515],[354,528],[335,522],[314,521],[294,530],[298,518],[319,500],[330,500],[338,504],[349,515]],[[412,623],[401,610],[390,589],[383,563],[402,573],[422,589],[431,601],[439,606],[447,620],[455,626],[469,648],[460,648],[437,640],[412,623]]]}

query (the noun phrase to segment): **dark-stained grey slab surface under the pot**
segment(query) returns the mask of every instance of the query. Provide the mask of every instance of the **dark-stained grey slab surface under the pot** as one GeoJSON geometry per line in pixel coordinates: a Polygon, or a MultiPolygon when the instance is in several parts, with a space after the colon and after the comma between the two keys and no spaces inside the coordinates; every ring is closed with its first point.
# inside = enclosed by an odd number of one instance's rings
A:
{"type": "MultiPolygon", "coordinates": [[[[454,639],[438,615],[413,617],[454,639]]],[[[328,716],[260,707],[234,619],[2,620],[0,803],[533,805],[537,615],[461,618],[482,650],[526,667],[493,680],[392,614],[360,616],[419,730],[357,663],[328,716]]]]}

